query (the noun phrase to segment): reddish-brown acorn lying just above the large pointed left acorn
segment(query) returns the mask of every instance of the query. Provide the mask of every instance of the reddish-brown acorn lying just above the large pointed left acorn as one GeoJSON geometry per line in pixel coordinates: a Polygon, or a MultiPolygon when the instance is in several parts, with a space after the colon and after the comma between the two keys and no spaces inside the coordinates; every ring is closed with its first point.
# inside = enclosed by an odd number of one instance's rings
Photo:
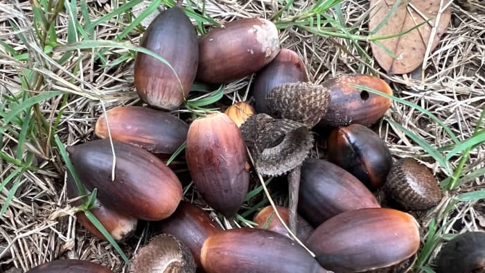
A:
{"type": "Polygon", "coordinates": [[[140,106],[113,107],[96,121],[94,134],[101,139],[139,146],[149,152],[172,154],[185,141],[188,125],[172,114],[140,106]]]}

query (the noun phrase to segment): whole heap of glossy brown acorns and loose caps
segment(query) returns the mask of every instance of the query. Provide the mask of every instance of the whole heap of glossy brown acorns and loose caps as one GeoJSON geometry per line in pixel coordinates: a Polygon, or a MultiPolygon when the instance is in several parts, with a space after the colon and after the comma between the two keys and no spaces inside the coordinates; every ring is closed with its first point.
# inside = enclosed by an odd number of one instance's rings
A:
{"type": "MultiPolygon", "coordinates": [[[[96,122],[100,139],[68,147],[88,193],[97,188],[91,212],[115,240],[130,238],[139,220],[152,222],[157,235],[136,251],[130,272],[391,272],[412,264],[419,227],[403,211],[430,209],[442,195],[430,170],[412,158],[393,161],[386,143],[369,129],[391,100],[355,85],[385,94],[391,88],[358,74],[312,84],[297,53],[281,49],[278,35],[272,22],[246,18],[197,37],[179,6],[162,12],[141,46],[170,66],[143,53],[134,64],[136,91],[150,107],[113,107],[96,122]],[[254,107],[239,102],[190,125],[169,112],[184,103],[195,80],[222,84],[252,73],[254,107]],[[327,159],[310,157],[317,125],[333,127],[327,159]],[[197,192],[229,219],[245,201],[250,172],[296,177],[297,196],[290,196],[297,203],[296,226],[285,227],[267,206],[254,216],[256,228],[223,230],[183,200],[179,177],[160,157],[184,143],[197,192]],[[378,188],[396,209],[381,207],[372,193],[378,188]]],[[[70,198],[78,197],[71,176],[67,189],[70,198]]],[[[288,224],[295,212],[276,208],[288,224]]],[[[77,216],[105,240],[83,213],[77,216]]],[[[449,262],[454,254],[447,255],[449,262]]],[[[79,260],[53,261],[30,272],[67,267],[110,272],[79,260]]]]}

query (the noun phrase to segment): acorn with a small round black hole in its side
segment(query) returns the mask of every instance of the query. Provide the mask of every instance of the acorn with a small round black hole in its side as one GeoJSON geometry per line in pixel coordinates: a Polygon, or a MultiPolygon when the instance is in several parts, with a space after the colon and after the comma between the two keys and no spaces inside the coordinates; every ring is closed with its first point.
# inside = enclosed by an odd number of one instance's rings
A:
{"type": "Polygon", "coordinates": [[[392,89],[380,78],[349,74],[323,82],[330,89],[330,105],[320,125],[346,126],[362,124],[369,126],[376,123],[391,107],[391,99],[379,96],[352,85],[361,85],[382,93],[392,95],[392,89]]]}

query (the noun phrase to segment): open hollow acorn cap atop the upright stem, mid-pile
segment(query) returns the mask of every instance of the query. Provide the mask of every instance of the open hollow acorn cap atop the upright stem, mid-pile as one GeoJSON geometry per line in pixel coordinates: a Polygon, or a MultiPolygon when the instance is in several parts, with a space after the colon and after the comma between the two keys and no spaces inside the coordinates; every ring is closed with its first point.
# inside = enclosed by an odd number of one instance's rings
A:
{"type": "Polygon", "coordinates": [[[308,157],[313,146],[313,136],[306,125],[267,114],[251,116],[240,130],[261,175],[288,173],[308,157]]]}

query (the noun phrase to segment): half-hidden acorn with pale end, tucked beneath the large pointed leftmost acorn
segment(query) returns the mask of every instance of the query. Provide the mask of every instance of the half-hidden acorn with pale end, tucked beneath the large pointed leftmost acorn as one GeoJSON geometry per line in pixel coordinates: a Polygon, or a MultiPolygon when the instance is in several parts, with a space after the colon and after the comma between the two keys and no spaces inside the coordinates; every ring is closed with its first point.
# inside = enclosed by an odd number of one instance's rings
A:
{"type": "MultiPolygon", "coordinates": [[[[67,175],[66,188],[67,197],[69,197],[69,199],[79,196],[78,188],[76,187],[71,173],[67,175]]],[[[87,191],[88,195],[90,193],[91,192],[87,191]]],[[[81,204],[82,199],[71,202],[71,206],[80,206],[81,204]]],[[[130,215],[125,215],[116,209],[109,209],[107,206],[103,205],[98,198],[96,198],[94,206],[89,209],[89,211],[91,211],[96,219],[103,224],[103,227],[105,227],[112,238],[118,242],[124,242],[130,238],[134,234],[136,226],[138,225],[138,219],[130,215]]],[[[107,240],[101,231],[99,231],[98,228],[86,217],[83,211],[76,213],[76,219],[90,234],[101,240],[107,240]]]]}

